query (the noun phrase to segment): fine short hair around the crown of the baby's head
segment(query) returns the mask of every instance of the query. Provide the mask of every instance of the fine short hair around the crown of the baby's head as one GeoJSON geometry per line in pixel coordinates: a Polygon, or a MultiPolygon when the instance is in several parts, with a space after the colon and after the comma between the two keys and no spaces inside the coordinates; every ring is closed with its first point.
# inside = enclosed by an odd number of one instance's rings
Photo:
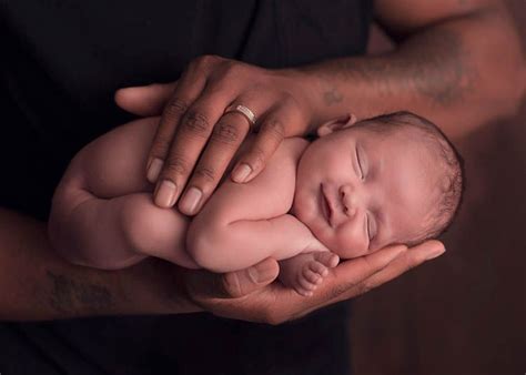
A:
{"type": "Polygon", "coordinates": [[[388,134],[392,131],[401,129],[413,129],[425,135],[429,149],[439,154],[439,158],[437,158],[439,161],[437,166],[442,166],[443,178],[446,179],[448,183],[445,186],[438,186],[441,189],[441,196],[431,225],[418,239],[413,239],[406,242],[406,244],[414,246],[426,240],[437,237],[449,229],[464,199],[465,168],[464,159],[444,132],[429,120],[408,111],[382,114],[361,121],[354,125],[354,128],[356,126],[364,126],[364,129],[383,134],[388,134]]]}

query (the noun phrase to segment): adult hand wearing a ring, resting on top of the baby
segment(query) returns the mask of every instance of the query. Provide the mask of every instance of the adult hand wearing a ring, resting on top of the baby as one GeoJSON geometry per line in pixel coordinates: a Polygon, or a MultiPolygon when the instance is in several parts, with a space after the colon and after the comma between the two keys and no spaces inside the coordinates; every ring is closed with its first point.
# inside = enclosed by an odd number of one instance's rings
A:
{"type": "Polygon", "coordinates": [[[204,55],[172,84],[119,90],[115,101],[130,112],[154,115],[162,111],[145,171],[148,180],[156,183],[155,204],[173,206],[186,186],[178,207],[196,214],[251,126],[259,132],[256,140],[232,172],[233,181],[240,183],[264,169],[284,138],[305,134],[311,107],[300,74],[204,55]],[[225,113],[240,104],[253,112],[255,124],[250,115],[225,113]]]}

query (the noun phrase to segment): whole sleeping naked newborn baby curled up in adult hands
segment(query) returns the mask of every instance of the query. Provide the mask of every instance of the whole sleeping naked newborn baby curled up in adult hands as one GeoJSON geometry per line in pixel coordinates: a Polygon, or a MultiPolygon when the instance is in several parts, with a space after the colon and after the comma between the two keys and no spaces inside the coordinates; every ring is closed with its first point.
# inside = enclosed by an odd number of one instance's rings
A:
{"type": "Polygon", "coordinates": [[[144,170],[158,123],[117,128],[70,163],[49,220],[50,240],[69,261],[111,270],[156,256],[230,272],[272,256],[286,286],[312,295],[340,259],[437,236],[461,202],[453,145],[427,120],[396,112],[335,119],[312,143],[285,139],[260,175],[223,179],[191,220],[152,202],[144,170]]]}

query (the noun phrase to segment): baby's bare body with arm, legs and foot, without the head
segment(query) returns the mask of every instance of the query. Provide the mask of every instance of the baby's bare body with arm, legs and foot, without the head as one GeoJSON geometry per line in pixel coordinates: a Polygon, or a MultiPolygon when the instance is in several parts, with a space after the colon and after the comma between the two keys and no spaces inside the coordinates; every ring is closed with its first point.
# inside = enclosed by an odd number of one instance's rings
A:
{"type": "Polygon", "coordinates": [[[283,261],[280,277],[287,286],[312,294],[338,257],[289,213],[295,170],[308,142],[285,140],[247,184],[223,181],[192,221],[152,202],[144,169],[158,121],[120,126],[73,159],[53,197],[50,236],[57,250],[74,263],[102,268],[158,256],[184,267],[229,272],[272,256],[283,261]],[[290,259],[302,252],[332,256],[290,259]]]}

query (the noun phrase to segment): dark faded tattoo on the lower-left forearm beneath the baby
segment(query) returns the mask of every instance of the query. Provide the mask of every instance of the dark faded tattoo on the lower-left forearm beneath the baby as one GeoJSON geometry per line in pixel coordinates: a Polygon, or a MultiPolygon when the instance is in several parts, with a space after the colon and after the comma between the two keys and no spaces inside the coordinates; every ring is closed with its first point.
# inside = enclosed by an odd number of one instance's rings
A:
{"type": "Polygon", "coordinates": [[[82,283],[68,276],[45,273],[51,283],[50,306],[62,314],[79,315],[79,312],[97,314],[108,312],[113,306],[110,291],[101,285],[82,283]]]}

